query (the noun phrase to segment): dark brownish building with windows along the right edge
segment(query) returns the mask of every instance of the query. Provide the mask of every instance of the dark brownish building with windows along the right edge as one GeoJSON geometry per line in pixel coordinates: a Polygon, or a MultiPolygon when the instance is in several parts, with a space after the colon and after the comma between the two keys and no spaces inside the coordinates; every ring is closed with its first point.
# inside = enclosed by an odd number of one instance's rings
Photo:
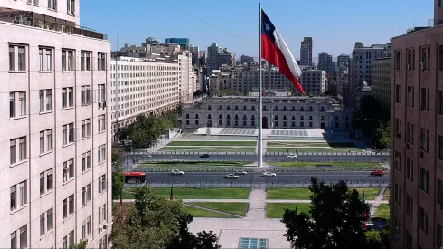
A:
{"type": "Polygon", "coordinates": [[[391,39],[391,248],[441,248],[443,8],[391,39]]]}

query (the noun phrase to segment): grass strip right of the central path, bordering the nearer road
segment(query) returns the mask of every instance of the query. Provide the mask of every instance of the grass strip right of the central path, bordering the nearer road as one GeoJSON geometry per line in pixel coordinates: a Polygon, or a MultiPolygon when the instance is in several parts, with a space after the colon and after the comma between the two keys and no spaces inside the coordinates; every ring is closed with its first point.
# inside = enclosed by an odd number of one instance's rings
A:
{"type": "MultiPolygon", "coordinates": [[[[374,200],[379,188],[356,188],[363,199],[363,190],[366,200],[374,200]]],[[[270,188],[267,191],[269,200],[308,200],[311,191],[309,188],[270,188]]]]}

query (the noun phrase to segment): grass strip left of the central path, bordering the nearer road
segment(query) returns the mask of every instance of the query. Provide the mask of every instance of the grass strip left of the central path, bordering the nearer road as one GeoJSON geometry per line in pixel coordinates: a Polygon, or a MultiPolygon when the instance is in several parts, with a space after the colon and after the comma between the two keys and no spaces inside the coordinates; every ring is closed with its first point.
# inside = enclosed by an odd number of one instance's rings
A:
{"type": "MultiPolygon", "coordinates": [[[[124,189],[124,199],[133,199],[131,188],[124,189]]],[[[171,188],[169,187],[153,187],[151,191],[156,196],[169,197],[171,188]]],[[[193,188],[180,187],[173,189],[174,198],[177,199],[247,199],[250,195],[249,188],[193,188]]]]}

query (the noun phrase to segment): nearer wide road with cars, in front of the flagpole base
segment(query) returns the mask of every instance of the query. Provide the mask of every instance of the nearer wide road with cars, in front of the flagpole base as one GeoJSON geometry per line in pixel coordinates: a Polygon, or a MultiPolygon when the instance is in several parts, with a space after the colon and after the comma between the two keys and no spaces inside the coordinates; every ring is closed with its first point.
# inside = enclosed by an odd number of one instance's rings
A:
{"type": "Polygon", "coordinates": [[[285,172],[276,173],[276,177],[263,177],[261,173],[248,173],[239,179],[223,178],[230,172],[186,172],[184,175],[170,173],[146,173],[148,183],[302,183],[309,182],[311,177],[317,177],[325,182],[345,180],[350,183],[389,183],[390,175],[387,172],[383,177],[371,177],[369,172],[285,172]]]}

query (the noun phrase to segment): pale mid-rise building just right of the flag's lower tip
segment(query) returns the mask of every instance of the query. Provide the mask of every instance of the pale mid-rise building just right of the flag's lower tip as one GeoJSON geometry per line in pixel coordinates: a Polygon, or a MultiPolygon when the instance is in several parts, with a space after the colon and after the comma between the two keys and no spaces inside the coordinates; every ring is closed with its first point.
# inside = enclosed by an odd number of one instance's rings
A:
{"type": "Polygon", "coordinates": [[[322,94],[325,92],[325,71],[306,70],[300,77],[300,83],[307,94],[322,94]]]}

